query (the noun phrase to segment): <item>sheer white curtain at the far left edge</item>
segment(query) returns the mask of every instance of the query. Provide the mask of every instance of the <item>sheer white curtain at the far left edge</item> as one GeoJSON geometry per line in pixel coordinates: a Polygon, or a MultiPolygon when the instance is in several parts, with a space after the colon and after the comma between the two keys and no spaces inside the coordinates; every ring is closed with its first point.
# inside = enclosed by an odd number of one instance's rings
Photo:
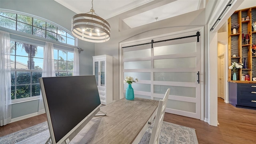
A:
{"type": "Polygon", "coordinates": [[[10,34],[0,31],[0,126],[11,122],[10,34]]]}

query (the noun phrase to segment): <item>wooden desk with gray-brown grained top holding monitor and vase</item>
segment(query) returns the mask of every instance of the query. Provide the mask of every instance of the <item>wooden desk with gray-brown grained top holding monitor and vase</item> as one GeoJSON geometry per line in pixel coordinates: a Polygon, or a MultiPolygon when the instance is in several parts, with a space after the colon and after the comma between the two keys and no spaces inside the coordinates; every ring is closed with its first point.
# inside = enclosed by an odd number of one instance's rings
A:
{"type": "Polygon", "coordinates": [[[140,142],[156,115],[159,101],[122,98],[100,108],[107,116],[96,116],[69,144],[131,144],[140,142]]]}

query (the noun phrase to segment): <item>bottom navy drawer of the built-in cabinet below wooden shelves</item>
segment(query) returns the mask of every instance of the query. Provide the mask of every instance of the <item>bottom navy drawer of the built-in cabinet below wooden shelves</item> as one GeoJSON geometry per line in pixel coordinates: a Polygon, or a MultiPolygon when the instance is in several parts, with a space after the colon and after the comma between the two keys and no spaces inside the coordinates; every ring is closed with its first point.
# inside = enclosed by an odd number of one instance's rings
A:
{"type": "Polygon", "coordinates": [[[237,105],[256,107],[256,96],[239,96],[237,97],[237,105]]]}

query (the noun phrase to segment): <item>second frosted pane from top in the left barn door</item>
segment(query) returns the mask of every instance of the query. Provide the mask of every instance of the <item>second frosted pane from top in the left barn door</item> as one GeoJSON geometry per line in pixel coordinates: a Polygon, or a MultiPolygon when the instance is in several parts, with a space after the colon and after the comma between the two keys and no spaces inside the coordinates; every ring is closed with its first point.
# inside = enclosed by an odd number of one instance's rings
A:
{"type": "Polygon", "coordinates": [[[124,69],[142,69],[151,67],[150,60],[137,62],[124,62],[124,69]]]}

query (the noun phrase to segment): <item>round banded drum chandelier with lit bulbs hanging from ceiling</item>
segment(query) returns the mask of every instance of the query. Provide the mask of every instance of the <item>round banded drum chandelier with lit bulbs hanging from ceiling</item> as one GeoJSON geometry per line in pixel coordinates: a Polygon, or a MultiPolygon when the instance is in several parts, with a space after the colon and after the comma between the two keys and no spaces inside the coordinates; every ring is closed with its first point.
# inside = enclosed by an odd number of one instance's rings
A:
{"type": "Polygon", "coordinates": [[[94,12],[93,0],[90,12],[73,16],[71,30],[76,38],[88,42],[110,40],[110,24],[94,12]]]}

